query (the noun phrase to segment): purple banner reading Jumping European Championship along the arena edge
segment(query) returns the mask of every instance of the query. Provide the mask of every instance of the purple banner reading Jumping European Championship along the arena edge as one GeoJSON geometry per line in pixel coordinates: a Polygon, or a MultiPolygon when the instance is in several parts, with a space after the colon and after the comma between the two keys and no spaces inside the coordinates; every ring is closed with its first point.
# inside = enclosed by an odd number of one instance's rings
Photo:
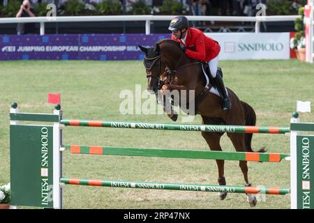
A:
{"type": "Polygon", "coordinates": [[[0,60],[142,60],[137,45],[150,47],[170,34],[59,34],[0,36],[0,60]]]}

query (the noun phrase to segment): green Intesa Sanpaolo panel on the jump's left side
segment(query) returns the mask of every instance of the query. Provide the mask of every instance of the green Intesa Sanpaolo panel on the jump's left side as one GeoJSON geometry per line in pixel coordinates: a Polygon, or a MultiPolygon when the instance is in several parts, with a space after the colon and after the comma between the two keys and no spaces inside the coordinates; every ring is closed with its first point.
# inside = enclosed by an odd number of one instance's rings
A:
{"type": "Polygon", "coordinates": [[[52,144],[52,126],[10,125],[11,205],[53,207],[52,144]]]}

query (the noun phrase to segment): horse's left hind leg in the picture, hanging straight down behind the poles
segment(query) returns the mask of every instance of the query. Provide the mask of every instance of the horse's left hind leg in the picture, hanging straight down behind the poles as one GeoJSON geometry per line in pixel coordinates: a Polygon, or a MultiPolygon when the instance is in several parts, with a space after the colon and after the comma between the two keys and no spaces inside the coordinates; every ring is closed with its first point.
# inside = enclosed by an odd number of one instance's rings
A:
{"type": "MultiPolygon", "coordinates": [[[[220,137],[223,133],[214,133],[214,132],[202,132],[202,137],[207,141],[209,148],[211,151],[222,151],[220,147],[220,137]]],[[[225,182],[225,160],[216,160],[218,167],[218,184],[226,185],[225,182]]],[[[219,193],[220,200],[225,199],[227,197],[226,192],[219,193]]]]}

